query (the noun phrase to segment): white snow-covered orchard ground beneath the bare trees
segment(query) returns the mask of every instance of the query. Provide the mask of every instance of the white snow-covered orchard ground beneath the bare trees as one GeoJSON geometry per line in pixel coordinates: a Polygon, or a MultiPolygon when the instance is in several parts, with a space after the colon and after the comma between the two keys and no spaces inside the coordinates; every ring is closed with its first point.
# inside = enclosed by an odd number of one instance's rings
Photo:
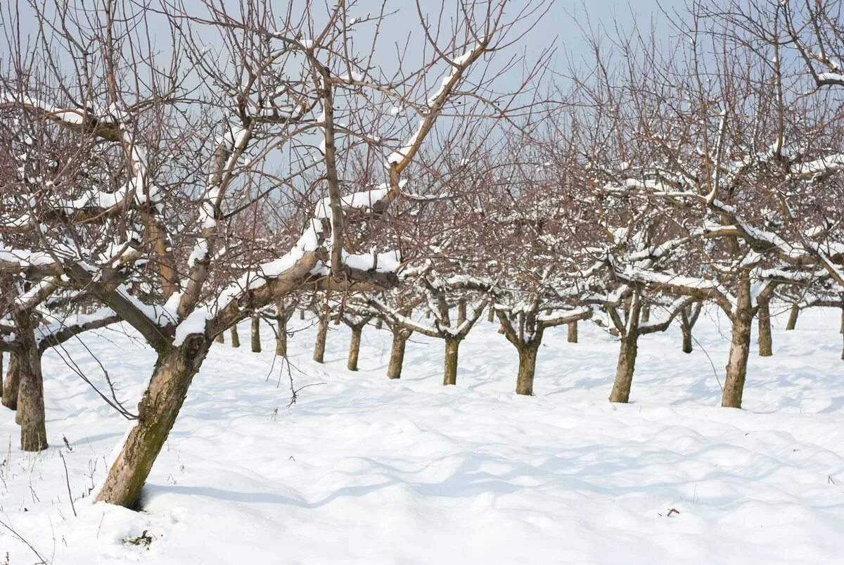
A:
{"type": "MultiPolygon", "coordinates": [[[[804,312],[793,332],[784,323],[775,356],[750,361],[745,410],[718,406],[728,329],[702,315],[691,355],[679,329],[642,338],[630,405],[607,401],[616,344],[591,323],[579,344],[547,334],[527,398],[511,393],[516,351],[484,322],[449,388],[441,342],[414,336],[391,382],[387,329],[365,330],[357,373],[345,369],[346,329],[333,327],[324,366],[302,329],[291,371],[297,388],[314,386],[287,408],[288,367],[266,329],[268,352],[214,345],[143,512],[86,497],[75,518],[68,486],[78,498],[102,480],[127,423],[54,351],[52,447],[20,452],[0,408],[0,519],[33,546],[0,526],[0,562],[7,551],[12,565],[35,551],[62,564],[841,562],[839,311],[804,312]],[[149,546],[127,543],[144,532],[149,546]]],[[[134,406],[149,350],[114,331],[85,341],[134,406]]],[[[82,345],[68,352],[103,383],[82,345]]]]}

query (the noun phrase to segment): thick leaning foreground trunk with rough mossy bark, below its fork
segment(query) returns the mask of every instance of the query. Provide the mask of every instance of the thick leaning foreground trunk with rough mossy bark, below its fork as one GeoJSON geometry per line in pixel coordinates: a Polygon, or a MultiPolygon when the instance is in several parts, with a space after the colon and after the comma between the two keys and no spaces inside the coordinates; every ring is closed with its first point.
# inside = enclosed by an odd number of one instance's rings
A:
{"type": "Polygon", "coordinates": [[[192,335],[179,347],[160,352],[149,386],[138,404],[140,419],[111,465],[97,501],[137,508],[143,483],[170,434],[209,345],[203,336],[192,335]]]}

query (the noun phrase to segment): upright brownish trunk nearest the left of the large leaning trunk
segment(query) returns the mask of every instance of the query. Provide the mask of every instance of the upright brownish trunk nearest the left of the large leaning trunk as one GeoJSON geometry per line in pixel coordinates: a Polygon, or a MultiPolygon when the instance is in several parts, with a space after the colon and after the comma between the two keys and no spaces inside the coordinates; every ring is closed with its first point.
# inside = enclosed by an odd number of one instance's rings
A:
{"type": "Polygon", "coordinates": [[[28,313],[16,315],[18,355],[18,413],[15,421],[20,424],[20,448],[23,451],[41,451],[47,448],[44,422],[44,383],[41,379],[41,356],[35,342],[35,330],[28,313]]]}

